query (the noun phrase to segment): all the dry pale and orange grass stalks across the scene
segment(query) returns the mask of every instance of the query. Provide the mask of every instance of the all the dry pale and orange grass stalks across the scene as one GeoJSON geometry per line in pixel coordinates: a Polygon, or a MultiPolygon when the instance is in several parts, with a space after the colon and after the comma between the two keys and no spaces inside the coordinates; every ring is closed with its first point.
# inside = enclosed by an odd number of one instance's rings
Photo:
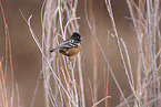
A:
{"type": "MultiPolygon", "coordinates": [[[[31,32],[32,39],[34,40],[37,46],[39,47],[42,55],[42,69],[36,85],[34,94],[32,97],[31,106],[34,107],[36,96],[40,85],[40,78],[43,78],[43,90],[44,90],[44,103],[46,107],[85,107],[89,103],[85,98],[84,92],[84,77],[82,72],[82,58],[81,53],[69,61],[68,57],[59,53],[49,53],[49,50],[56,47],[60,42],[68,39],[72,32],[79,32],[79,21],[81,18],[77,15],[79,0],[44,0],[41,8],[41,28],[42,35],[41,41],[34,34],[31,28],[31,18],[29,17],[27,22],[29,30],[31,32]]],[[[122,38],[120,38],[115,19],[113,15],[113,10],[111,6],[111,0],[104,0],[101,4],[104,4],[108,14],[111,19],[112,30],[107,29],[107,49],[105,51],[99,36],[97,36],[98,29],[95,24],[95,17],[92,6],[92,0],[84,0],[84,15],[88,28],[90,30],[91,42],[92,42],[92,65],[93,65],[93,76],[92,82],[89,81],[88,85],[90,87],[90,97],[92,100],[92,107],[99,106],[104,103],[104,107],[110,107],[109,98],[109,76],[114,79],[114,83],[120,92],[123,101],[117,107],[159,107],[161,105],[161,93],[160,93],[160,82],[161,82],[161,35],[160,35],[160,0],[127,0],[127,4],[130,12],[130,18],[127,20],[131,21],[133,24],[133,30],[135,32],[134,38],[137,39],[137,68],[132,67],[131,55],[127,47],[127,43],[122,38]],[[113,32],[113,33],[111,33],[113,32]],[[112,36],[115,40],[118,46],[118,52],[120,55],[120,61],[124,74],[127,76],[127,82],[129,83],[129,88],[131,95],[128,97],[123,93],[121,85],[115,77],[114,71],[111,67],[110,56],[110,45],[109,39],[112,36]],[[105,67],[103,71],[103,92],[99,90],[99,55],[101,53],[105,67]],[[124,52],[124,53],[123,53],[124,52]],[[137,71],[135,71],[137,69],[137,71]],[[137,72],[137,75],[133,75],[137,72]],[[109,75],[109,73],[111,75],[109,75]],[[103,97],[98,97],[98,94],[103,93],[103,97]]],[[[1,57],[0,61],[0,107],[13,107],[14,106],[14,87],[18,94],[18,107],[20,107],[20,97],[18,85],[14,86],[13,82],[13,66],[12,66],[12,54],[11,54],[11,42],[9,30],[7,28],[4,12],[2,4],[0,2],[4,31],[6,31],[6,57],[1,57]],[[9,49],[8,49],[9,47],[9,49]],[[9,53],[9,56],[8,56],[9,53]],[[11,67],[11,96],[8,97],[8,89],[6,86],[7,74],[8,74],[8,58],[10,61],[11,67]],[[4,62],[4,71],[2,68],[2,63],[4,62]]],[[[100,11],[102,12],[102,10],[100,11]]],[[[102,21],[100,21],[102,22],[102,21]]],[[[101,25],[101,23],[100,23],[101,25]]],[[[114,96],[112,96],[114,97],[114,96]]]]}

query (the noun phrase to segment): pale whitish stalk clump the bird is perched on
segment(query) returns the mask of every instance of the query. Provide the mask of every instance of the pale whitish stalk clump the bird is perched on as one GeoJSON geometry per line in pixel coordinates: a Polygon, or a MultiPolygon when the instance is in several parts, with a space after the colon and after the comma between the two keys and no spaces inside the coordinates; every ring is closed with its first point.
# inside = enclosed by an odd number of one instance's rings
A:
{"type": "Polygon", "coordinates": [[[44,0],[41,9],[41,43],[31,29],[31,17],[27,21],[32,38],[42,54],[46,107],[51,105],[85,107],[80,53],[69,60],[59,53],[49,52],[50,49],[69,38],[67,35],[79,32],[77,20],[80,18],[77,18],[76,14],[77,6],[78,0],[44,0]]]}

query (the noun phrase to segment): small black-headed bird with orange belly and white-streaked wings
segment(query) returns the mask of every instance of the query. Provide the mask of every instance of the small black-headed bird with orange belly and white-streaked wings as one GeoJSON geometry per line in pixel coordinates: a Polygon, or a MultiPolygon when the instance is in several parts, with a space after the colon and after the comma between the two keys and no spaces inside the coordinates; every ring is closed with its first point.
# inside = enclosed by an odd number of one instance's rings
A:
{"type": "Polygon", "coordinates": [[[71,38],[60,43],[56,49],[50,50],[50,52],[59,51],[63,55],[73,56],[77,55],[81,49],[82,38],[79,33],[73,32],[71,38]]]}

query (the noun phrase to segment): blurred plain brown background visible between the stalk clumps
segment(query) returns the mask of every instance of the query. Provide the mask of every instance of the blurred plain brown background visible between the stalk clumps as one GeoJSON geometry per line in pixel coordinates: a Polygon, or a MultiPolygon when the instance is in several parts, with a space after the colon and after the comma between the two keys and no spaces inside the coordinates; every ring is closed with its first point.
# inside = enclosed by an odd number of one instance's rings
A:
{"type": "MultiPolygon", "coordinates": [[[[111,0],[112,9],[114,13],[114,19],[119,32],[119,36],[123,38],[129,54],[131,57],[131,64],[133,72],[137,66],[137,50],[135,50],[135,35],[131,20],[125,19],[129,17],[129,9],[127,7],[125,0],[111,0]]],[[[14,83],[18,83],[19,94],[20,94],[20,104],[22,107],[29,107],[32,100],[33,92],[36,88],[37,79],[41,71],[41,53],[36,45],[31,33],[28,29],[27,23],[24,22],[19,9],[23,12],[24,17],[28,19],[29,15],[33,15],[31,19],[31,25],[41,41],[41,23],[40,23],[40,12],[43,0],[1,0],[6,20],[9,28],[9,33],[11,36],[11,47],[12,47],[12,58],[13,58],[13,71],[14,71],[14,83]]],[[[104,6],[104,0],[93,0],[93,14],[95,20],[97,36],[101,46],[107,53],[107,35],[108,30],[110,33],[111,21],[107,8],[104,6]]],[[[92,83],[93,76],[93,58],[92,58],[92,43],[90,29],[87,24],[85,14],[84,14],[84,1],[79,0],[77,15],[81,19],[79,20],[80,34],[83,36],[81,57],[82,57],[82,71],[83,79],[85,87],[85,101],[87,107],[92,105],[92,99],[90,96],[89,81],[92,83]]],[[[99,47],[97,46],[98,55],[98,99],[103,98],[103,75],[107,69],[107,64],[100,53],[99,47]]],[[[4,57],[4,26],[3,20],[0,12],[0,60],[4,57]]],[[[113,73],[125,95],[128,97],[131,94],[123,67],[121,65],[121,60],[118,53],[118,47],[115,40],[110,36],[109,39],[109,62],[113,69],[113,73]]],[[[3,62],[4,63],[4,62],[3,62]]],[[[3,64],[4,65],[4,64],[3,64]]],[[[135,74],[135,73],[133,73],[135,74]]],[[[10,73],[8,73],[10,76],[10,73]]],[[[42,78],[43,81],[43,78],[42,78]]],[[[10,88],[10,79],[7,81],[7,86],[10,88]]],[[[38,89],[37,99],[34,107],[44,107],[44,93],[42,88],[42,83],[38,89]]],[[[109,99],[110,106],[114,107],[122,101],[121,95],[111,77],[109,75],[109,99]]],[[[99,107],[102,107],[104,103],[101,103],[99,107]]]]}

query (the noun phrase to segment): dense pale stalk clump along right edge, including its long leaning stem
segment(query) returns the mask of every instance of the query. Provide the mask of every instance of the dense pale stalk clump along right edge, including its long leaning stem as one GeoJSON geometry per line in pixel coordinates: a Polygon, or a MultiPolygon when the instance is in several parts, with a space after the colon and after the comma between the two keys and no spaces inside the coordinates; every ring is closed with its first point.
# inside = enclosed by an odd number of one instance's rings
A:
{"type": "MultiPolygon", "coordinates": [[[[120,54],[122,54],[110,3],[111,1],[109,0],[107,2],[107,8],[113,23],[118,47],[120,54]]],[[[133,104],[133,107],[158,107],[160,105],[160,98],[158,97],[160,95],[160,62],[158,62],[160,56],[160,45],[158,45],[158,43],[160,43],[160,40],[158,40],[160,39],[160,1],[140,0],[137,4],[133,0],[127,0],[127,3],[130,10],[130,20],[132,20],[135,38],[138,40],[138,66],[137,81],[134,83],[128,49],[121,39],[128,60],[129,71],[124,63],[123,55],[121,55],[121,61],[133,93],[132,96],[134,96],[133,101],[128,104],[133,104]],[[135,85],[137,87],[134,87],[135,85]]]]}

